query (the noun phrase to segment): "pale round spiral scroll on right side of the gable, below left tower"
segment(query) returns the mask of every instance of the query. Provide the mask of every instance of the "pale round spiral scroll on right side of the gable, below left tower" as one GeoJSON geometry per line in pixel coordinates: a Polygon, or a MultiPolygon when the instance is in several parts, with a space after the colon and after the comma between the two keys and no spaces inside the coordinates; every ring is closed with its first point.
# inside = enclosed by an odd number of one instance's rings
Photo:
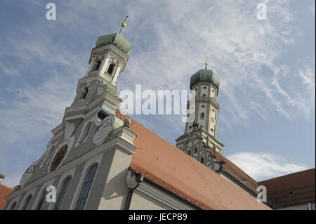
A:
{"type": "Polygon", "coordinates": [[[105,138],[112,130],[114,120],[114,115],[109,115],[105,117],[105,119],[103,119],[103,121],[98,126],[98,129],[96,129],[96,133],[93,136],[93,143],[95,143],[96,145],[100,145],[100,143],[104,142],[105,138]]]}

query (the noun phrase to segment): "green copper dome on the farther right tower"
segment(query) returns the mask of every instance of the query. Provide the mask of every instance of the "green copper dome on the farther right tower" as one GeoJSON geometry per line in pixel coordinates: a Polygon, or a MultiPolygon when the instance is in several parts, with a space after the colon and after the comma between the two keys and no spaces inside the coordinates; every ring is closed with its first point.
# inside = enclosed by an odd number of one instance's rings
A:
{"type": "Polygon", "coordinates": [[[190,88],[192,88],[192,86],[194,84],[197,84],[199,81],[211,82],[212,84],[217,86],[217,88],[219,88],[220,84],[220,78],[218,77],[218,75],[213,72],[213,70],[207,69],[199,70],[198,72],[195,72],[195,74],[192,74],[190,88]]]}

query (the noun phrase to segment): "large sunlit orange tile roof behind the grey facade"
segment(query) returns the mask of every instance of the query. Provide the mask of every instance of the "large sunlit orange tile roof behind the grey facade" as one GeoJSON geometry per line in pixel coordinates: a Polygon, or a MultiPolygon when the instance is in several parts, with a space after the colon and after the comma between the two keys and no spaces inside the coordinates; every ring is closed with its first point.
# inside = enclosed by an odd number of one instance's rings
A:
{"type": "Polygon", "coordinates": [[[202,209],[270,209],[137,121],[131,130],[137,135],[131,169],[154,183],[202,209]]]}

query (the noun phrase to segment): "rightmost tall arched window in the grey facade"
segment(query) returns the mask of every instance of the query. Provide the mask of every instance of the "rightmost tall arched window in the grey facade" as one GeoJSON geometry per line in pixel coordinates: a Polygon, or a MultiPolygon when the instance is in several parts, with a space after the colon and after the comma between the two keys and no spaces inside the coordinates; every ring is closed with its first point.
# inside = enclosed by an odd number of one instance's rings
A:
{"type": "Polygon", "coordinates": [[[84,209],[84,205],[86,204],[86,199],[88,199],[88,195],[97,169],[98,164],[95,164],[89,169],[88,173],[86,173],[86,178],[84,179],[84,183],[81,187],[81,191],[77,199],[77,204],[75,207],[76,210],[84,209]]]}

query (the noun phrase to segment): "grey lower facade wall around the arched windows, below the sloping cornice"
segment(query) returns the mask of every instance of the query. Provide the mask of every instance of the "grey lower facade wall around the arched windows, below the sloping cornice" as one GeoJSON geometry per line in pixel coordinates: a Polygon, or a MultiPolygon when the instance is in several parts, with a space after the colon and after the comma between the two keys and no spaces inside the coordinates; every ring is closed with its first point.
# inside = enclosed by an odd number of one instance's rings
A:
{"type": "MultiPolygon", "coordinates": [[[[112,141],[117,140],[117,138],[113,139],[112,141]]],[[[107,194],[105,198],[107,201],[120,201],[119,208],[115,208],[120,209],[121,204],[126,198],[126,192],[128,192],[124,180],[126,178],[126,172],[129,168],[129,164],[131,164],[131,153],[125,152],[119,147],[109,148],[107,147],[109,144],[110,143],[105,143],[91,150],[95,152],[95,154],[90,152],[91,157],[84,155],[87,157],[86,159],[82,157],[75,159],[72,162],[73,164],[69,165],[67,169],[61,166],[60,169],[55,171],[56,173],[58,171],[57,175],[51,176],[51,178],[47,177],[51,175],[50,173],[43,177],[43,180],[39,179],[34,181],[34,183],[26,185],[17,192],[13,192],[13,195],[10,197],[9,202],[6,205],[6,209],[10,208],[11,204],[14,202],[18,202],[15,206],[15,209],[22,209],[25,199],[30,194],[32,194],[32,199],[29,202],[27,209],[37,209],[39,198],[41,197],[45,187],[47,185],[54,185],[56,187],[57,198],[60,188],[62,187],[62,182],[68,176],[71,176],[72,179],[60,209],[74,209],[84,182],[84,178],[86,177],[86,173],[88,169],[96,163],[98,163],[98,169],[96,171],[96,176],[93,180],[84,209],[98,209],[100,199],[101,197],[105,197],[105,192],[107,194]],[[107,187],[105,187],[105,185],[107,185],[107,187]],[[109,192],[109,189],[112,190],[112,193],[109,192]],[[117,192],[119,192],[119,194],[117,194],[117,192]],[[119,195],[119,197],[117,195],[119,195]]],[[[54,207],[55,203],[44,202],[42,209],[54,209],[54,207]]],[[[107,206],[106,208],[100,209],[114,209],[114,207],[107,206]]]]}

